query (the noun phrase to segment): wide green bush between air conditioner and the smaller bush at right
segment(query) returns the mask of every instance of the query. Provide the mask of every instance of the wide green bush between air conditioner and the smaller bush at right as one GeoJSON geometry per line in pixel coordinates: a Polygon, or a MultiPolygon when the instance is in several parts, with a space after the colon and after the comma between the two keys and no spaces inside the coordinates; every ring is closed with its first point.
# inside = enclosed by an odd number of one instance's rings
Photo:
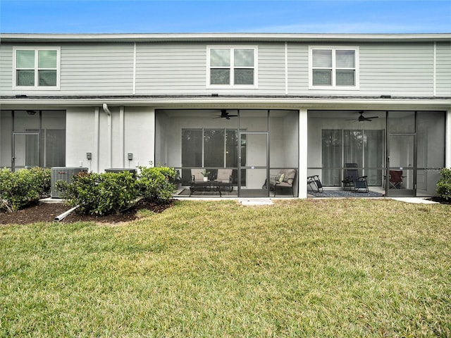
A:
{"type": "Polygon", "coordinates": [[[70,206],[82,213],[107,215],[121,213],[137,199],[137,182],[132,173],[79,173],[70,183],[57,181],[56,188],[70,206]]]}

